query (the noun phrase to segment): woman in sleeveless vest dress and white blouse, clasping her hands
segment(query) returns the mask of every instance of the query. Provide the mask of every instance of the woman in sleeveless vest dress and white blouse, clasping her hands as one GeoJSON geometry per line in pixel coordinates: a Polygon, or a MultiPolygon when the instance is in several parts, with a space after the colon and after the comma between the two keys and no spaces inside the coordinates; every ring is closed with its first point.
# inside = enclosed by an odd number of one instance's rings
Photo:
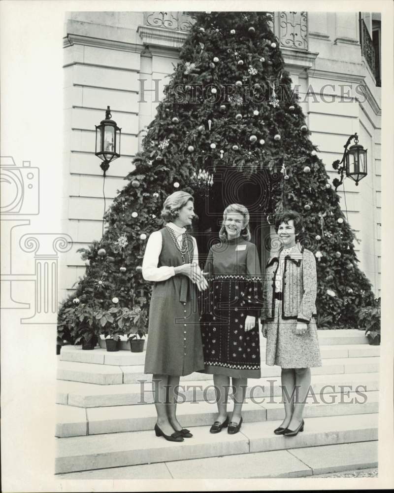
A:
{"type": "Polygon", "coordinates": [[[189,193],[167,197],[166,225],[150,235],[142,263],[143,278],[154,282],[144,371],[153,374],[155,432],[176,442],[193,436],[176,417],[179,377],[204,367],[196,286],[206,289],[207,282],[198,267],[196,240],[186,233],[194,215],[189,193]]]}

